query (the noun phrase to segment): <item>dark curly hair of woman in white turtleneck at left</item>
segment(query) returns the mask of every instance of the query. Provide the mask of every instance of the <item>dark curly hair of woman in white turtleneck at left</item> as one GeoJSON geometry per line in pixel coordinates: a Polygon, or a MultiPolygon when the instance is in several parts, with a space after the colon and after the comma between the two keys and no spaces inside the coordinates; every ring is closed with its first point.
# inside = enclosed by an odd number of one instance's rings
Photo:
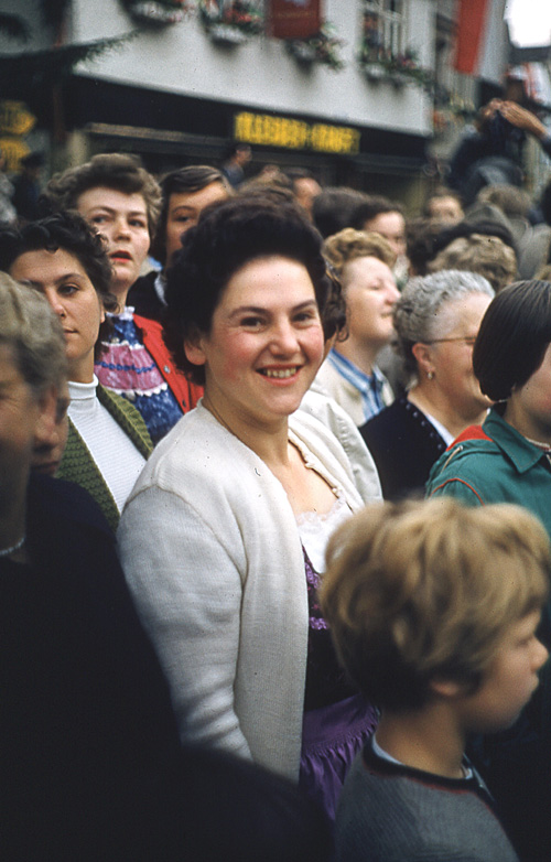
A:
{"type": "MultiPolygon", "coordinates": [[[[117,298],[111,293],[112,269],[104,239],[79,215],[55,213],[30,222],[19,230],[0,230],[0,270],[9,272],[15,260],[28,251],[57,251],[73,255],[96,289],[105,311],[116,312],[117,298]]],[[[99,327],[97,351],[109,340],[108,320],[99,327]]]]}

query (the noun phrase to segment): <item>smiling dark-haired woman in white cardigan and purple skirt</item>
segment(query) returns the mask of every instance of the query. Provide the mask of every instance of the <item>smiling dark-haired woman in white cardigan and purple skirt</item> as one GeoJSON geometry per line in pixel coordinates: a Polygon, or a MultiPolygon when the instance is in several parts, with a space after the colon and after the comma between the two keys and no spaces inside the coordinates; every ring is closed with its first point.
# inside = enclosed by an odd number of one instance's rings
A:
{"type": "Polygon", "coordinates": [[[332,815],[376,713],[316,600],[329,534],[368,499],[336,438],[298,409],[333,334],[328,300],[298,207],[203,213],[169,270],[165,337],[205,396],[155,450],[119,542],[182,739],[300,779],[332,815]]]}

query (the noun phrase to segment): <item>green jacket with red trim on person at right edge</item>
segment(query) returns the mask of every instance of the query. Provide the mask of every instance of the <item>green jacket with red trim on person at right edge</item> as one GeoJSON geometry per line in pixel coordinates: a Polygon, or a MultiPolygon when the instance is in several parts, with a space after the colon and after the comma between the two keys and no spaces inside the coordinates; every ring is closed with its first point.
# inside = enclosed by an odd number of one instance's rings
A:
{"type": "Polygon", "coordinates": [[[551,537],[551,463],[541,449],[493,408],[433,465],[426,496],[445,494],[469,506],[516,503],[537,515],[551,537]]]}

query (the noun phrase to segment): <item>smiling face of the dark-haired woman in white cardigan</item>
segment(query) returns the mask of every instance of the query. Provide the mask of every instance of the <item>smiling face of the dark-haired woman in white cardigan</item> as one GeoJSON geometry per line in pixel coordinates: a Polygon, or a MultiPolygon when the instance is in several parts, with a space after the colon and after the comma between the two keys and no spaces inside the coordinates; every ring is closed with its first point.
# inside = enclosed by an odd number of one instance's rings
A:
{"type": "Polygon", "coordinates": [[[209,403],[237,422],[278,424],[294,412],[323,358],[324,337],[306,268],[284,257],[257,258],[229,279],[210,331],[186,343],[205,366],[209,403]]]}

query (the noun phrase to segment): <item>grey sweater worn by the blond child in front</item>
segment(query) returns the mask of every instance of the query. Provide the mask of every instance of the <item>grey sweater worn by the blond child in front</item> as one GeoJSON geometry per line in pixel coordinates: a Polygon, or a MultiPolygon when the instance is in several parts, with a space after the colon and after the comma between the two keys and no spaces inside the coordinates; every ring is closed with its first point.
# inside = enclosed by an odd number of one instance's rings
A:
{"type": "Polygon", "coordinates": [[[345,782],[336,845],[338,862],[518,862],[474,768],[443,778],[386,761],[370,742],[345,782]]]}

